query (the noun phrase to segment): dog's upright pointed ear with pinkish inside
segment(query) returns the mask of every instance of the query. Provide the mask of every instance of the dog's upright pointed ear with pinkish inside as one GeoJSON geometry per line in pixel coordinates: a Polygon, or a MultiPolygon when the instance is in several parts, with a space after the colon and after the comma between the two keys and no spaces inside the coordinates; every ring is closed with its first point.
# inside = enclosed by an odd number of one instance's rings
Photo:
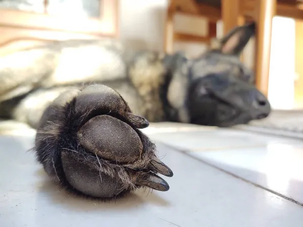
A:
{"type": "Polygon", "coordinates": [[[249,39],[255,35],[254,22],[236,27],[220,40],[220,51],[223,54],[240,55],[249,39]]]}

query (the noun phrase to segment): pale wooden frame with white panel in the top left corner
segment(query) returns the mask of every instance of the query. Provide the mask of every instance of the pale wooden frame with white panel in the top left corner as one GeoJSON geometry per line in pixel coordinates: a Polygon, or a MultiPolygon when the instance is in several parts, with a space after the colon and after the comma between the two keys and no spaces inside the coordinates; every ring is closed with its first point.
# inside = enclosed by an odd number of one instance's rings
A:
{"type": "Polygon", "coordinates": [[[0,47],[18,40],[24,46],[25,40],[117,35],[118,0],[0,1],[0,47]]]}

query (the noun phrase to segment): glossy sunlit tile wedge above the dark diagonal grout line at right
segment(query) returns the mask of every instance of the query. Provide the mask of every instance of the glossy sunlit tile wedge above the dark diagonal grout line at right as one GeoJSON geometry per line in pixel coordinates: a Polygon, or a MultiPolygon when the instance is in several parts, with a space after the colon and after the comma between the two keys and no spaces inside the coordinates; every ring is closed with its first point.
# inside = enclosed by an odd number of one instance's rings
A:
{"type": "Polygon", "coordinates": [[[192,151],[190,155],[303,203],[303,143],[192,151]]]}

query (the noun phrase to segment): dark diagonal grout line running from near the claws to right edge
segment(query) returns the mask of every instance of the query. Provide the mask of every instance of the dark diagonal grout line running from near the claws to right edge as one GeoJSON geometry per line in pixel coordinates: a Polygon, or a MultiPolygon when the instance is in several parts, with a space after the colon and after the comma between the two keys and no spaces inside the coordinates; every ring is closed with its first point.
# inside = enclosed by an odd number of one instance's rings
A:
{"type": "Polygon", "coordinates": [[[273,191],[273,190],[271,190],[271,189],[269,189],[269,188],[263,187],[262,185],[258,185],[258,184],[254,183],[254,182],[252,182],[252,181],[246,180],[245,178],[239,177],[239,176],[237,176],[237,175],[235,175],[235,174],[233,174],[233,173],[230,173],[230,172],[226,171],[225,169],[220,168],[220,167],[218,167],[218,166],[216,166],[216,165],[214,165],[214,164],[211,164],[211,163],[209,163],[209,162],[207,162],[207,161],[205,161],[205,160],[203,160],[203,159],[196,158],[195,156],[190,155],[189,152],[186,152],[185,150],[181,150],[181,149],[179,149],[179,148],[173,147],[173,146],[171,146],[171,145],[169,145],[169,144],[166,144],[166,143],[163,143],[163,142],[160,142],[160,143],[162,143],[164,146],[167,146],[167,147],[169,147],[169,148],[172,148],[173,150],[176,150],[176,151],[178,151],[178,152],[180,152],[180,153],[182,153],[182,154],[185,154],[185,155],[187,155],[188,157],[191,157],[191,158],[193,158],[193,159],[195,159],[195,160],[197,160],[197,161],[199,161],[199,162],[202,162],[202,163],[204,163],[204,164],[206,164],[206,165],[208,165],[208,166],[210,166],[210,167],[216,168],[216,169],[218,169],[219,171],[221,171],[221,172],[223,172],[223,173],[225,173],[225,174],[228,174],[228,175],[230,175],[230,176],[232,176],[232,177],[234,177],[234,178],[237,178],[237,179],[239,179],[239,180],[241,180],[241,181],[243,181],[243,182],[246,182],[246,183],[248,183],[248,184],[254,185],[254,186],[257,187],[257,188],[261,188],[261,189],[263,189],[263,190],[265,190],[265,191],[268,191],[268,192],[270,192],[270,193],[272,193],[272,194],[274,194],[274,195],[277,195],[277,196],[279,196],[279,197],[282,197],[283,199],[286,199],[286,200],[288,200],[288,201],[290,201],[290,202],[292,202],[292,203],[295,203],[295,204],[297,204],[297,205],[303,207],[303,203],[300,203],[300,202],[298,202],[298,201],[296,201],[296,200],[294,200],[294,199],[292,199],[292,198],[290,198],[290,197],[287,197],[287,196],[285,196],[285,195],[283,195],[283,194],[281,194],[281,193],[279,193],[279,192],[275,192],[275,191],[273,191]]]}

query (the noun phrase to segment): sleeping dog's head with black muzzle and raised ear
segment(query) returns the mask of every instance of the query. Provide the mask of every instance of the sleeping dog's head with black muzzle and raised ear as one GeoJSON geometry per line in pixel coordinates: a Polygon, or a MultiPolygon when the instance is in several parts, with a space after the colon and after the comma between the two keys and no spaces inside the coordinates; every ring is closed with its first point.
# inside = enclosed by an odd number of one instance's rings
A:
{"type": "Polygon", "coordinates": [[[181,122],[230,127],[266,118],[271,107],[254,86],[254,74],[239,55],[255,34],[255,24],[237,27],[216,49],[194,60],[177,58],[168,100],[181,122]]]}

